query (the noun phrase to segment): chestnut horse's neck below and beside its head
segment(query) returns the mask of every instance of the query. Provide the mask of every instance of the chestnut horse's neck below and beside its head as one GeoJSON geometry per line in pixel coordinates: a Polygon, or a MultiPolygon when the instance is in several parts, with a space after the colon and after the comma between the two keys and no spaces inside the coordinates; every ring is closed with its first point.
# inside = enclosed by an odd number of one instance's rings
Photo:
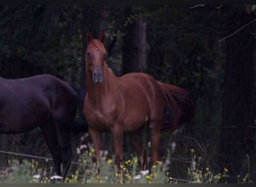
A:
{"type": "Polygon", "coordinates": [[[95,84],[91,76],[87,73],[87,91],[88,96],[94,102],[103,102],[106,97],[116,97],[120,93],[118,77],[112,72],[109,67],[105,67],[103,72],[103,82],[95,84]]]}

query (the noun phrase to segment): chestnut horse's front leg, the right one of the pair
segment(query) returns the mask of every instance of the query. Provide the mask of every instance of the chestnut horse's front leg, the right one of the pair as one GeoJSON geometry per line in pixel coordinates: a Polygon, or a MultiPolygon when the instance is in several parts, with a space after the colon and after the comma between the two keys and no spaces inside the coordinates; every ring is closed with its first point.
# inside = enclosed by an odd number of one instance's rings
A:
{"type": "Polygon", "coordinates": [[[118,172],[121,173],[121,165],[123,164],[123,142],[124,129],[123,126],[115,124],[112,129],[112,135],[115,147],[115,164],[118,165],[118,172]]]}

